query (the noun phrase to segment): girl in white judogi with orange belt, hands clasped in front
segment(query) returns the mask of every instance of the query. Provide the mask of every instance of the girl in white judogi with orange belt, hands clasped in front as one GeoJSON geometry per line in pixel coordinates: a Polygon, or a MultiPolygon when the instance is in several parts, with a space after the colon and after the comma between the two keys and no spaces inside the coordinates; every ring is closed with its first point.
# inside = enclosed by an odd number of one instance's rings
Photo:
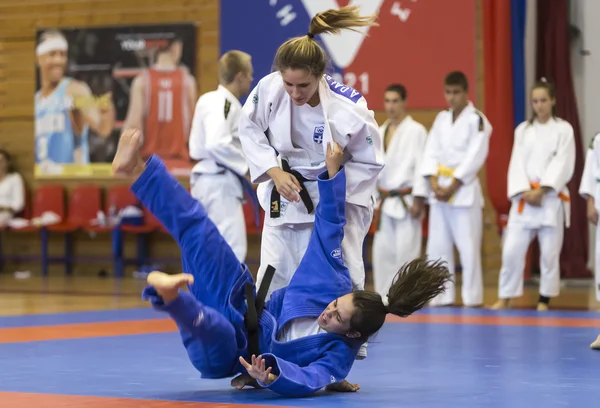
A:
{"type": "Polygon", "coordinates": [[[567,183],[575,170],[575,138],[569,122],[555,115],[554,87],[542,80],[531,91],[534,116],[515,129],[508,167],[512,205],[502,245],[502,269],[493,309],[503,309],[523,295],[527,249],[537,235],[540,244],[540,298],[548,309],[560,291],[560,252],[569,226],[567,183]]]}

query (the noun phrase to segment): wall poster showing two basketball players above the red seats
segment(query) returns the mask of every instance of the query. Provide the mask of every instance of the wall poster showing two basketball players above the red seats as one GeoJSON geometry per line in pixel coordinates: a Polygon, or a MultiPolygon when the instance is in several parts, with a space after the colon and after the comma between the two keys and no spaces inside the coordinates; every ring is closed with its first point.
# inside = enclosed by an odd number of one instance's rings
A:
{"type": "Polygon", "coordinates": [[[190,174],[194,24],[42,29],[35,54],[37,178],[110,177],[127,127],[145,157],[190,174]]]}

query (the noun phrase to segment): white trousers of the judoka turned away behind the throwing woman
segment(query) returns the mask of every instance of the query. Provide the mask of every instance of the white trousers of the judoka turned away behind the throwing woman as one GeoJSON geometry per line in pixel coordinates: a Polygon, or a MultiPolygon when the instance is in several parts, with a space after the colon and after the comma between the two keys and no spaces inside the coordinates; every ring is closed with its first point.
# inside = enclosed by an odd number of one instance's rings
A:
{"type": "Polygon", "coordinates": [[[234,174],[197,175],[191,188],[192,197],[200,201],[208,217],[229,244],[240,262],[248,251],[242,185],[234,174]]]}

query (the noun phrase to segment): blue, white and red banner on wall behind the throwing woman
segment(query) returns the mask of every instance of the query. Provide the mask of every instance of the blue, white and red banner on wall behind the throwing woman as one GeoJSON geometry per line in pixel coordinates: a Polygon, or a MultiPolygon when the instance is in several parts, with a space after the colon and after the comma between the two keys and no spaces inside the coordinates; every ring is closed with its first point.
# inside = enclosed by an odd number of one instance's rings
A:
{"type": "Polygon", "coordinates": [[[467,75],[475,95],[475,0],[221,0],[221,53],[252,55],[259,80],[277,48],[306,34],[315,14],[346,5],[378,14],[379,27],[317,39],[336,80],[361,92],[371,109],[383,109],[391,83],[407,87],[412,109],[445,109],[443,81],[454,70],[467,75]]]}

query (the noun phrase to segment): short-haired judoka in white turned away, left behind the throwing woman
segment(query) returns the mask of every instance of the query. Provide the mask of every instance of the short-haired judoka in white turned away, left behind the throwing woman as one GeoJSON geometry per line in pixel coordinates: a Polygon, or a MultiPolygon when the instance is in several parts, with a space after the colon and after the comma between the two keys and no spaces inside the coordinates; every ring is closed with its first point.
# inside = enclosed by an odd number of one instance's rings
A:
{"type": "Polygon", "coordinates": [[[241,51],[229,51],[219,60],[219,87],[196,103],[190,132],[190,156],[199,162],[192,169],[191,193],[240,262],[247,252],[244,190],[254,196],[244,179],[248,164],[238,136],[242,112],[239,98],[250,91],[252,61],[241,51]]]}

